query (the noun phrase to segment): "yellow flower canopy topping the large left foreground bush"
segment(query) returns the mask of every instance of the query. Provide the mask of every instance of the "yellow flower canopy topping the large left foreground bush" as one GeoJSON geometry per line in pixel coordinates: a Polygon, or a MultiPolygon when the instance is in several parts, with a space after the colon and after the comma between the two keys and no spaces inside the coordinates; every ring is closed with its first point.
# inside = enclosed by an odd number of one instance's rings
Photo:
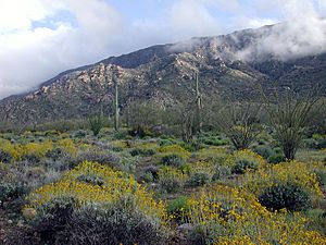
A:
{"type": "Polygon", "coordinates": [[[143,213],[156,217],[162,221],[166,220],[163,203],[156,203],[152,194],[138,184],[133,175],[87,161],[66,172],[61,181],[33,192],[27,198],[28,206],[26,207],[37,210],[41,205],[64,197],[72,197],[78,207],[88,204],[114,204],[124,196],[133,196],[137,208],[143,213]],[[97,175],[104,184],[100,186],[78,181],[83,174],[97,175]]]}

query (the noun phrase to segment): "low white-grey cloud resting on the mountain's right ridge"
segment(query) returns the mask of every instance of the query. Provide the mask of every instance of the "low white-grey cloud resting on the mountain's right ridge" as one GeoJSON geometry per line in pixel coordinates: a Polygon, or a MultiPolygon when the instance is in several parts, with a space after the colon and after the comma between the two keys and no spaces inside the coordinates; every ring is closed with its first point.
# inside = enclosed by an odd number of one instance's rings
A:
{"type": "Polygon", "coordinates": [[[287,21],[265,29],[255,44],[238,53],[240,59],[252,60],[272,54],[275,59],[289,60],[326,52],[326,19],[313,1],[288,1],[284,14],[287,21]]]}

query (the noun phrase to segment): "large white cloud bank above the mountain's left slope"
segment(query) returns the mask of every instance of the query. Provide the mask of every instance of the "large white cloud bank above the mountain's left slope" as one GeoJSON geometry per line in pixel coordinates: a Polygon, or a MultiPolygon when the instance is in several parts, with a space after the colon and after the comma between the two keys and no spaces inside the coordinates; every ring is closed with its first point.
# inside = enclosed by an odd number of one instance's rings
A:
{"type": "Polygon", "coordinates": [[[0,1],[0,98],[32,89],[59,72],[120,49],[112,34],[123,36],[123,20],[101,0],[0,1]],[[55,28],[33,28],[33,22],[58,11],[71,12],[77,25],[59,20],[55,28]]]}

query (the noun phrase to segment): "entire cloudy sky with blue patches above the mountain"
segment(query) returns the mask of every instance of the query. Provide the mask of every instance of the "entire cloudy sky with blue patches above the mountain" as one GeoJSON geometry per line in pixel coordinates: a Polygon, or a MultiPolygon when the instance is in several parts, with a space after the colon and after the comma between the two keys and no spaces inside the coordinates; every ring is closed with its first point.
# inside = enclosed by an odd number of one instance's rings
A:
{"type": "Polygon", "coordinates": [[[0,99],[111,56],[280,22],[253,48],[315,53],[325,15],[326,0],[0,0],[0,99]]]}

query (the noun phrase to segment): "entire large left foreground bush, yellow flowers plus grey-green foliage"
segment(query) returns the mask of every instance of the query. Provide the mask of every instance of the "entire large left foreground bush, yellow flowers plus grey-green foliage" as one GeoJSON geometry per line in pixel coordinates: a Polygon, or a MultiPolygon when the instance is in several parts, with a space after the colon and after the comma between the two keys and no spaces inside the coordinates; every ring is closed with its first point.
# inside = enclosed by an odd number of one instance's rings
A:
{"type": "Polygon", "coordinates": [[[166,233],[162,201],[133,175],[95,162],[67,171],[59,182],[33,192],[27,201],[25,209],[36,210],[32,224],[43,234],[45,244],[158,244],[166,233]],[[103,184],[85,182],[89,179],[83,174],[103,184]]]}

